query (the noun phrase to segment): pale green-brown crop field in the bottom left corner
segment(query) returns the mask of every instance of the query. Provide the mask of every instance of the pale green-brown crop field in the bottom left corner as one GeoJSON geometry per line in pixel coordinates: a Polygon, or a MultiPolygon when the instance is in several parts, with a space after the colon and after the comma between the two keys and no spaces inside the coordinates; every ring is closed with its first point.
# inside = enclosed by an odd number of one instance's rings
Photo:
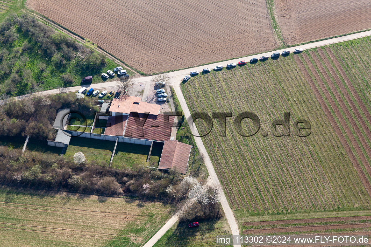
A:
{"type": "Polygon", "coordinates": [[[1,246],[139,247],[174,208],[128,198],[0,189],[1,246]]]}

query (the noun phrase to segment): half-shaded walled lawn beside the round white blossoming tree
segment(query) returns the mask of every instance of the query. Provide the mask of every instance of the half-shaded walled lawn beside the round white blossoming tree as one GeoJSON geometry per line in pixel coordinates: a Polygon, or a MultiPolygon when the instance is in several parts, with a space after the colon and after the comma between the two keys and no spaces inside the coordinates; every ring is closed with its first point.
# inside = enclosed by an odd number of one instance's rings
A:
{"type": "Polygon", "coordinates": [[[109,163],[114,147],[114,141],[72,137],[65,156],[73,158],[75,153],[81,151],[88,161],[96,160],[98,162],[104,161],[109,163]]]}

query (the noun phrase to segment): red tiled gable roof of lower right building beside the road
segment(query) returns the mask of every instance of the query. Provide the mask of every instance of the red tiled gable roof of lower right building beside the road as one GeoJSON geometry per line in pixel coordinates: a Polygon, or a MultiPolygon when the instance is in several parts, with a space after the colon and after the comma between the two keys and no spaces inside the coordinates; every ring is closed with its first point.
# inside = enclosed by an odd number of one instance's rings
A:
{"type": "Polygon", "coordinates": [[[187,173],[191,148],[191,145],[177,140],[165,141],[158,168],[170,169],[176,167],[180,173],[187,173]]]}

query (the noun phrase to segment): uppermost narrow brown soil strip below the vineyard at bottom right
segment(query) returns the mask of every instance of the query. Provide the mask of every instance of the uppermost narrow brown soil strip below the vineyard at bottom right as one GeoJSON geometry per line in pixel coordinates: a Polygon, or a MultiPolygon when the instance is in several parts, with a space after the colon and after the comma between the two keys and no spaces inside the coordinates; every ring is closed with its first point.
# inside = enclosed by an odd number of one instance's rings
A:
{"type": "Polygon", "coordinates": [[[265,226],[265,225],[305,224],[305,223],[321,223],[321,222],[335,222],[335,221],[349,221],[349,220],[371,220],[371,216],[312,218],[312,219],[301,219],[301,220],[252,221],[252,222],[244,222],[243,225],[244,226],[265,226]]]}

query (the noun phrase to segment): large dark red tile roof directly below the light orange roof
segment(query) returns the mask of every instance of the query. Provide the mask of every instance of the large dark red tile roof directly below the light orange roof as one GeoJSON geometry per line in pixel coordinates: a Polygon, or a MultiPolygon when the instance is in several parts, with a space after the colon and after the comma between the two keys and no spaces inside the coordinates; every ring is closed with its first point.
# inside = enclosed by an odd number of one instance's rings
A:
{"type": "Polygon", "coordinates": [[[167,141],[170,140],[173,125],[174,116],[130,113],[124,136],[154,141],[167,141]]]}

